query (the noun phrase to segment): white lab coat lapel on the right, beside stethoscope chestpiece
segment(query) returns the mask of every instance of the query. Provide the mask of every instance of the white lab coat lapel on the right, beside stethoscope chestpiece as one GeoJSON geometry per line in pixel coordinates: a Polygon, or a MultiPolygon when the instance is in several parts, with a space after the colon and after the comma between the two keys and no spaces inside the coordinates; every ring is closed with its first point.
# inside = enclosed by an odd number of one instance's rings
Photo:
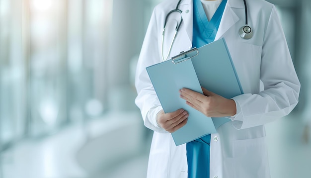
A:
{"type": "Polygon", "coordinates": [[[240,17],[233,11],[233,8],[244,8],[243,0],[228,0],[225,7],[222,20],[220,22],[215,40],[220,39],[226,31],[228,31],[240,17]]]}

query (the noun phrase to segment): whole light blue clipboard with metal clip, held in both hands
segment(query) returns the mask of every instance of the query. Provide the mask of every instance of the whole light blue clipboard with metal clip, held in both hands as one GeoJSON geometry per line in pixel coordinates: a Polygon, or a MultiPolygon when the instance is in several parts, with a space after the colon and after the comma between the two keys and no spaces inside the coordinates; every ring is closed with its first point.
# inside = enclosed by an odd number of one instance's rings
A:
{"type": "Polygon", "coordinates": [[[183,108],[189,113],[187,124],[172,133],[176,146],[216,133],[216,128],[231,121],[225,117],[210,118],[193,109],[179,97],[179,89],[203,93],[202,86],[226,98],[243,93],[223,38],[146,69],[164,112],[183,108]]]}

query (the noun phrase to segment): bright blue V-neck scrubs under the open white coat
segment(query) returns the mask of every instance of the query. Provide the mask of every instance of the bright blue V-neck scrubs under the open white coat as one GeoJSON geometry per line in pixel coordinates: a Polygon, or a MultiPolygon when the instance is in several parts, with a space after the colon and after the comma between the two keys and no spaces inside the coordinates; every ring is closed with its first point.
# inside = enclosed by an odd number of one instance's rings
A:
{"type": "MultiPolygon", "coordinates": [[[[223,0],[208,21],[201,0],[193,0],[192,47],[199,48],[214,41],[227,0],[223,0]]],[[[188,178],[209,178],[211,134],[187,143],[188,178]]]]}

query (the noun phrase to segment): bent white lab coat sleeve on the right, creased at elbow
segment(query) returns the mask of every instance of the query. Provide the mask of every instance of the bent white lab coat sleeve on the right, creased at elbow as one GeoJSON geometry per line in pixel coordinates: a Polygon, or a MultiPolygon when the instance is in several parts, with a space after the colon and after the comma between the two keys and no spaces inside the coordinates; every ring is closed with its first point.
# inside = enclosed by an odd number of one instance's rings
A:
{"type": "Polygon", "coordinates": [[[272,122],[288,115],[298,103],[300,82],[274,6],[263,39],[260,80],[264,86],[261,92],[233,97],[236,129],[272,122]]]}

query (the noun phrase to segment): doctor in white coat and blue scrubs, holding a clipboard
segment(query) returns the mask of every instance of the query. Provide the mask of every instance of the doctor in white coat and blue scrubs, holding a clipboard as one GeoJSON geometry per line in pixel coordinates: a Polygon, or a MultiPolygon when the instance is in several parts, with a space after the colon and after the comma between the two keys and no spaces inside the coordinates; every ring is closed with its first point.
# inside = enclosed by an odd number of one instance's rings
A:
{"type": "Polygon", "coordinates": [[[300,91],[276,8],[265,0],[164,0],[153,11],[135,86],[135,103],[154,131],[148,178],[270,178],[264,125],[289,114],[300,91]],[[227,99],[206,89],[204,95],[176,91],[203,114],[232,121],[215,134],[175,146],[170,133],[187,123],[188,113],[163,112],[146,67],[220,38],[244,94],[227,99]]]}

